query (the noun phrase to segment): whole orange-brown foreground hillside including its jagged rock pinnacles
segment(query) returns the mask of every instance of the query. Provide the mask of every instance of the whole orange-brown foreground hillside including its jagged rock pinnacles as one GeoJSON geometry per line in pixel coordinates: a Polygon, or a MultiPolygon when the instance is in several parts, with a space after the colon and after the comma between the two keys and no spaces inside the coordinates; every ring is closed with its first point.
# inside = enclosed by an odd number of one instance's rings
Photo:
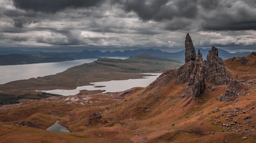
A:
{"type": "Polygon", "coordinates": [[[79,93],[1,106],[0,140],[3,143],[254,142],[256,53],[222,61],[218,49],[213,47],[203,61],[202,53],[195,55],[189,35],[185,48],[185,64],[164,72],[146,88],[121,93],[79,93]],[[56,119],[71,133],[43,130],[56,119]],[[30,124],[20,125],[24,120],[30,124]]]}

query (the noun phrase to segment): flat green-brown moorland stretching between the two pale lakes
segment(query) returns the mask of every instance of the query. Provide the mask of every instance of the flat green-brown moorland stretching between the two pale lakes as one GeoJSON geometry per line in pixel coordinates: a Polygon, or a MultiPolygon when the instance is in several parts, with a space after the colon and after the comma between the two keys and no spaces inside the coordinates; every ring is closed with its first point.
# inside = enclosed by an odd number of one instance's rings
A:
{"type": "Polygon", "coordinates": [[[142,78],[145,75],[138,73],[162,73],[168,69],[178,68],[182,64],[183,61],[148,55],[132,56],[125,60],[99,58],[92,63],[71,67],[56,75],[17,80],[0,85],[2,94],[15,97],[0,99],[0,103],[12,104],[21,98],[30,99],[31,97],[26,94],[33,94],[33,99],[45,98],[43,95],[37,95],[35,90],[75,89],[78,86],[90,85],[90,82],[142,78]],[[23,97],[23,95],[26,96],[23,97]]]}

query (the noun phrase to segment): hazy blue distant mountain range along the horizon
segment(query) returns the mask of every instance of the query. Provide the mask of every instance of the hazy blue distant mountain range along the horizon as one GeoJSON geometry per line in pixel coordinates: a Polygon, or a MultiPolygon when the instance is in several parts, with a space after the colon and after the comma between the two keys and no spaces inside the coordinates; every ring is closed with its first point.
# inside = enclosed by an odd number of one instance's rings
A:
{"type": "MultiPolygon", "coordinates": [[[[200,50],[203,55],[203,58],[206,59],[206,55],[208,49],[195,48],[196,51],[200,50]]],[[[163,52],[161,50],[153,50],[153,49],[138,49],[138,50],[125,50],[124,52],[115,51],[115,52],[101,52],[100,50],[83,50],[80,53],[47,53],[40,51],[1,51],[0,52],[0,65],[21,65],[21,64],[31,64],[31,63],[51,63],[51,62],[61,62],[61,61],[72,61],[77,59],[85,59],[85,58],[97,58],[97,57],[130,57],[136,56],[139,54],[147,54],[150,56],[157,56],[161,58],[169,58],[169,59],[178,59],[184,60],[185,58],[185,50],[180,52],[163,52]],[[16,53],[16,54],[7,54],[7,53],[16,53]]],[[[219,49],[219,56],[222,59],[227,59],[231,57],[237,56],[247,56],[250,52],[236,52],[229,53],[225,50],[219,49]]]]}

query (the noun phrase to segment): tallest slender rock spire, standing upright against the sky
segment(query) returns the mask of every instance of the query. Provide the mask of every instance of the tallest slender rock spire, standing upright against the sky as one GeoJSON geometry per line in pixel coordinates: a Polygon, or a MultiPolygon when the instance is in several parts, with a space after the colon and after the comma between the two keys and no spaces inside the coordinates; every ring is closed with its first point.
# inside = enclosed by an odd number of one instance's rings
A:
{"type": "Polygon", "coordinates": [[[189,36],[189,33],[186,35],[185,49],[186,49],[185,63],[189,61],[195,61],[195,57],[196,57],[195,48],[191,40],[191,37],[189,36]]]}

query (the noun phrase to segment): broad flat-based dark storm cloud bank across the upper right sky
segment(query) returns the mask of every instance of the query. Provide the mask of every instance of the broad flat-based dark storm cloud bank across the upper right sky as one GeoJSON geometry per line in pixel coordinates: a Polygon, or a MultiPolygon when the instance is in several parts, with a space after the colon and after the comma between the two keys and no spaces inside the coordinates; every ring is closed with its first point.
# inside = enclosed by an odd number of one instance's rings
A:
{"type": "Polygon", "coordinates": [[[192,24],[198,30],[256,30],[254,0],[126,0],[124,10],[143,21],[167,21],[166,30],[192,24]]]}

